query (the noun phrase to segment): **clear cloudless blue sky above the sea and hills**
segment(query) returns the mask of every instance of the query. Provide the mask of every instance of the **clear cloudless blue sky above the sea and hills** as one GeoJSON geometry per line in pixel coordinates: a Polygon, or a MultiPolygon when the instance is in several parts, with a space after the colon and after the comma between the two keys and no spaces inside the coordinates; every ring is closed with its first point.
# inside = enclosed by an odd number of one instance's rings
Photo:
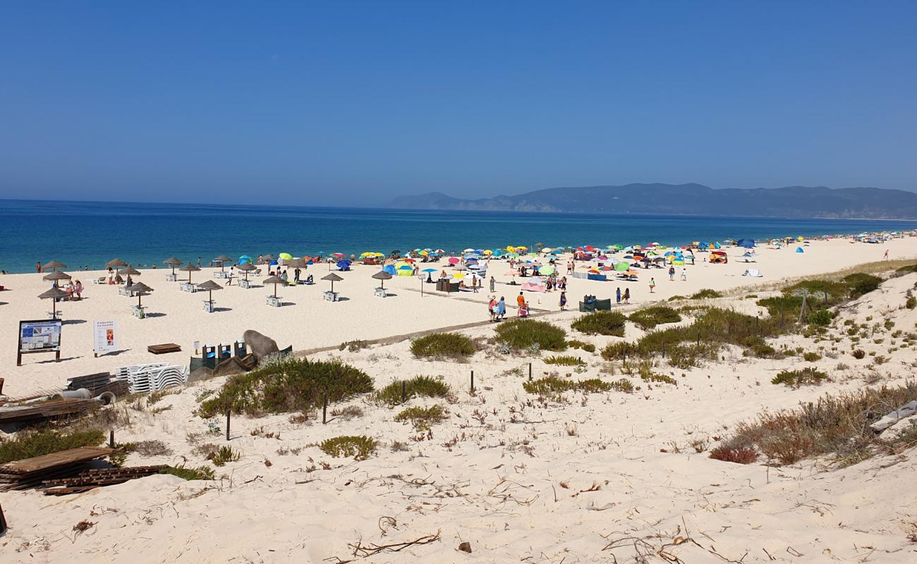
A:
{"type": "Polygon", "coordinates": [[[917,190],[917,2],[0,4],[0,197],[917,190]]]}

